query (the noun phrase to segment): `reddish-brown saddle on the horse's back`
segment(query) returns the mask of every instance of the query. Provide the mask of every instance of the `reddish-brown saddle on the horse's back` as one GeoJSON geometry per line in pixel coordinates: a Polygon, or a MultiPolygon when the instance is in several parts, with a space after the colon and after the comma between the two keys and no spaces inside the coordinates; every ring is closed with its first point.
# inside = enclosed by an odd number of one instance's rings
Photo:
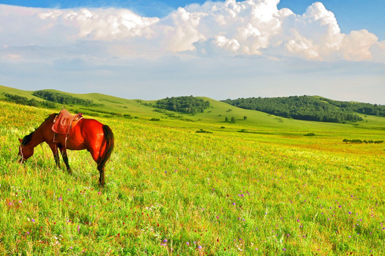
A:
{"type": "MultiPolygon", "coordinates": [[[[67,110],[63,109],[59,114],[55,116],[53,119],[52,130],[55,134],[65,134],[68,135],[70,133],[70,129],[75,127],[77,122],[82,119],[82,114],[70,114],[67,110]]],[[[54,137],[55,142],[55,137],[54,137]]]]}

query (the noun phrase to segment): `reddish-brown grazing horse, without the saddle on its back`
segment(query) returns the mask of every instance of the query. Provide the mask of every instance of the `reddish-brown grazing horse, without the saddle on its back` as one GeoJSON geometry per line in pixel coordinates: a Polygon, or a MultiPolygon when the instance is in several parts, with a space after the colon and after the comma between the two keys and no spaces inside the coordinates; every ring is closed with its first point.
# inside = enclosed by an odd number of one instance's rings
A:
{"type": "Polygon", "coordinates": [[[38,129],[23,139],[18,139],[21,142],[18,150],[18,155],[21,156],[20,161],[23,162],[31,157],[35,146],[42,142],[47,142],[53,152],[56,166],[60,168],[59,149],[65,166],[67,166],[67,171],[72,174],[68,164],[67,149],[87,149],[97,163],[99,183],[101,186],[104,186],[104,166],[112,154],[112,149],[114,149],[114,134],[112,130],[97,120],[82,118],[75,127],[70,129],[68,135],[54,134],[52,127],[56,115],[50,114],[43,124],[40,124],[38,129]]]}

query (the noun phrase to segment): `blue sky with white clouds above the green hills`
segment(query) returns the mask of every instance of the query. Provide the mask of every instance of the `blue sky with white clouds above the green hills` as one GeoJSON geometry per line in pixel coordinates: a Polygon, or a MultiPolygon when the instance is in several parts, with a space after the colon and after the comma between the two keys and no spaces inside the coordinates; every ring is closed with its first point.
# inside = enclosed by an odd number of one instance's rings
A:
{"type": "Polygon", "coordinates": [[[385,1],[2,1],[0,85],[385,105],[385,1]]]}

